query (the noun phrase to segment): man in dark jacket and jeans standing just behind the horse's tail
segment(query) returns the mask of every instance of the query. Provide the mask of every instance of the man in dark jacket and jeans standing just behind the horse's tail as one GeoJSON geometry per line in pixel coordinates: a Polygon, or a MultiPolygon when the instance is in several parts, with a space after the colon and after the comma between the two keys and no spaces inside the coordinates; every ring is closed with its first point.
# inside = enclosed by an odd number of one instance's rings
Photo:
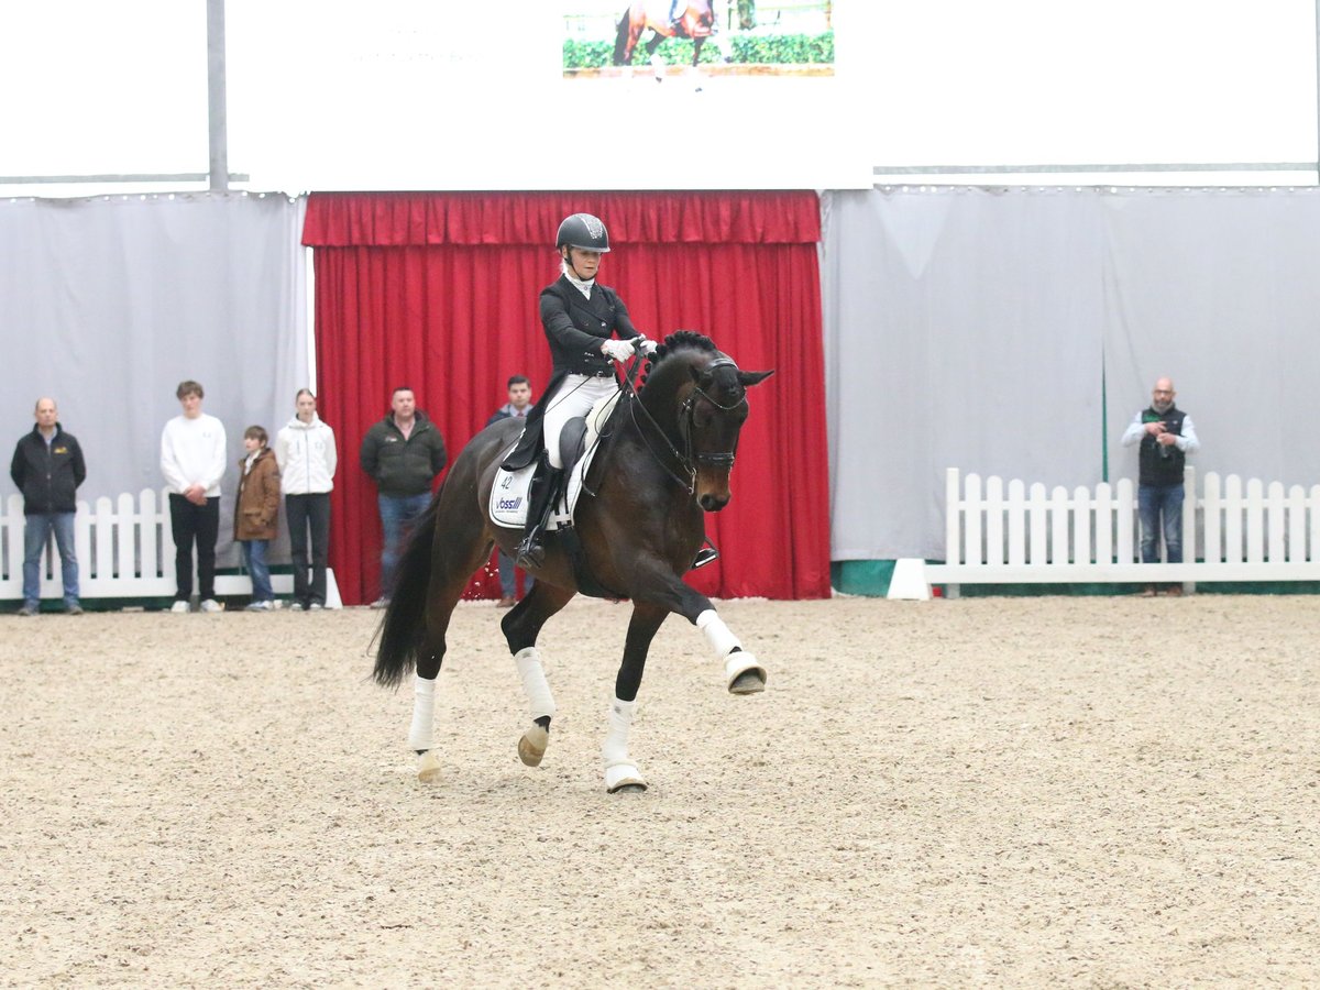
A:
{"type": "Polygon", "coordinates": [[[408,529],[430,504],[430,486],[445,467],[445,438],[417,408],[413,391],[399,387],[389,401],[389,414],[367,430],[360,457],[362,470],[378,488],[384,546],[380,549],[380,598],[371,607],[383,609],[395,590],[395,569],[408,529]]]}

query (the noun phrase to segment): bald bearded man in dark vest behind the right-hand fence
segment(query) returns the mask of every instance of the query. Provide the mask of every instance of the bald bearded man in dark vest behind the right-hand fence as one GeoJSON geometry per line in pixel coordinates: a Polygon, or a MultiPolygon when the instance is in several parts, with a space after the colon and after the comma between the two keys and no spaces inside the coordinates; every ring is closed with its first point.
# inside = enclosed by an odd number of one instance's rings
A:
{"type": "MultiPolygon", "coordinates": [[[[1159,562],[1159,536],[1170,564],[1183,562],[1183,466],[1187,455],[1201,444],[1192,417],[1173,405],[1173,380],[1155,383],[1150,408],[1137,413],[1123,433],[1123,446],[1140,444],[1137,484],[1137,511],[1142,521],[1142,564],[1159,562]]],[[[1155,585],[1142,591],[1155,594],[1155,585]]],[[[1183,586],[1170,585],[1168,594],[1183,594],[1183,586]]]]}

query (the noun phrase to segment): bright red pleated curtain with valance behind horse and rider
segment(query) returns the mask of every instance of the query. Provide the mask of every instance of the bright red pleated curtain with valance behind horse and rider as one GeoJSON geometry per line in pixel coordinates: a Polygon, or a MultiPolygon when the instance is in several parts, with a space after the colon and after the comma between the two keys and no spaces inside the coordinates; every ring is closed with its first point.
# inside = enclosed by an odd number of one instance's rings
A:
{"type": "MultiPolygon", "coordinates": [[[[346,603],[378,593],[380,520],[358,466],[367,428],[408,385],[453,461],[524,374],[549,379],[537,294],[570,213],[601,216],[614,252],[601,280],[652,338],[700,330],[747,370],[734,500],[706,517],[723,553],[689,576],[734,598],[824,598],[829,492],[814,193],[317,193],[302,243],[315,259],[317,381],[339,438],[330,565],[346,603]]],[[[444,477],[444,475],[442,475],[444,477]]],[[[492,574],[474,594],[496,595],[492,574]]]]}

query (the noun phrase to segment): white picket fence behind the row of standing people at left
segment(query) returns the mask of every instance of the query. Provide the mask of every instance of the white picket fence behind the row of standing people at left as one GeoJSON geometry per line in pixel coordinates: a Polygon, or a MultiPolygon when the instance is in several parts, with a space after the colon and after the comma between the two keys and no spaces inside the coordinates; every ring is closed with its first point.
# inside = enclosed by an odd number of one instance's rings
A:
{"type": "MultiPolygon", "coordinates": [[[[22,598],[22,496],[0,504],[0,601],[22,598]]],[[[169,520],[169,490],[144,488],[135,498],[99,498],[78,503],[74,519],[81,598],[170,598],[174,582],[174,537],[169,520]]],[[[272,574],[276,594],[293,591],[292,574],[272,574]]],[[[193,587],[197,587],[194,581],[193,587]]],[[[218,595],[252,594],[247,574],[218,574],[218,595]]],[[[48,541],[41,562],[41,597],[63,597],[59,553],[48,541]]],[[[326,573],[326,606],[342,607],[334,574],[326,573]]]]}

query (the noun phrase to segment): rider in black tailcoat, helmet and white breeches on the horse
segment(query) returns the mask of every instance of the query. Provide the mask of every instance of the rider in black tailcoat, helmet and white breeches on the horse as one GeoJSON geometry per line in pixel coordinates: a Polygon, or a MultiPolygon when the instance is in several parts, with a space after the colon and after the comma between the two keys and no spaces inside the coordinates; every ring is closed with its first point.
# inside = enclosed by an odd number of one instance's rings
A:
{"type": "Polygon", "coordinates": [[[560,253],[560,277],[541,289],[541,326],[550,343],[553,372],[541,401],[528,417],[523,442],[504,461],[504,467],[512,470],[536,458],[527,529],[517,548],[520,568],[536,568],[545,561],[540,535],[564,478],[560,455],[564,425],[576,416],[585,416],[597,400],[618,389],[611,362],[631,358],[638,341],[644,354],[656,347],[632,325],[628,308],[618,293],[595,280],[601,256],[610,249],[610,235],[599,218],[589,213],[565,218],[554,248],[560,253]],[[622,339],[615,339],[614,334],[622,339]]]}

